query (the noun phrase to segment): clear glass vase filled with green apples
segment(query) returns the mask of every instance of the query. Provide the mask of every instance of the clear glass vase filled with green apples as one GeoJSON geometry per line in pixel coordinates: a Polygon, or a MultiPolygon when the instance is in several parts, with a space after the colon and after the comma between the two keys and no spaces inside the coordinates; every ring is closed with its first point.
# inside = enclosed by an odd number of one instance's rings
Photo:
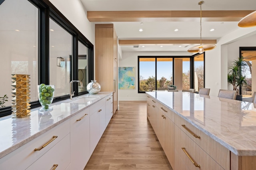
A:
{"type": "Polygon", "coordinates": [[[52,104],[54,97],[54,85],[45,85],[40,84],[38,85],[38,100],[41,104],[42,108],[40,108],[40,111],[51,111],[52,107],[50,105],[52,104]]]}

